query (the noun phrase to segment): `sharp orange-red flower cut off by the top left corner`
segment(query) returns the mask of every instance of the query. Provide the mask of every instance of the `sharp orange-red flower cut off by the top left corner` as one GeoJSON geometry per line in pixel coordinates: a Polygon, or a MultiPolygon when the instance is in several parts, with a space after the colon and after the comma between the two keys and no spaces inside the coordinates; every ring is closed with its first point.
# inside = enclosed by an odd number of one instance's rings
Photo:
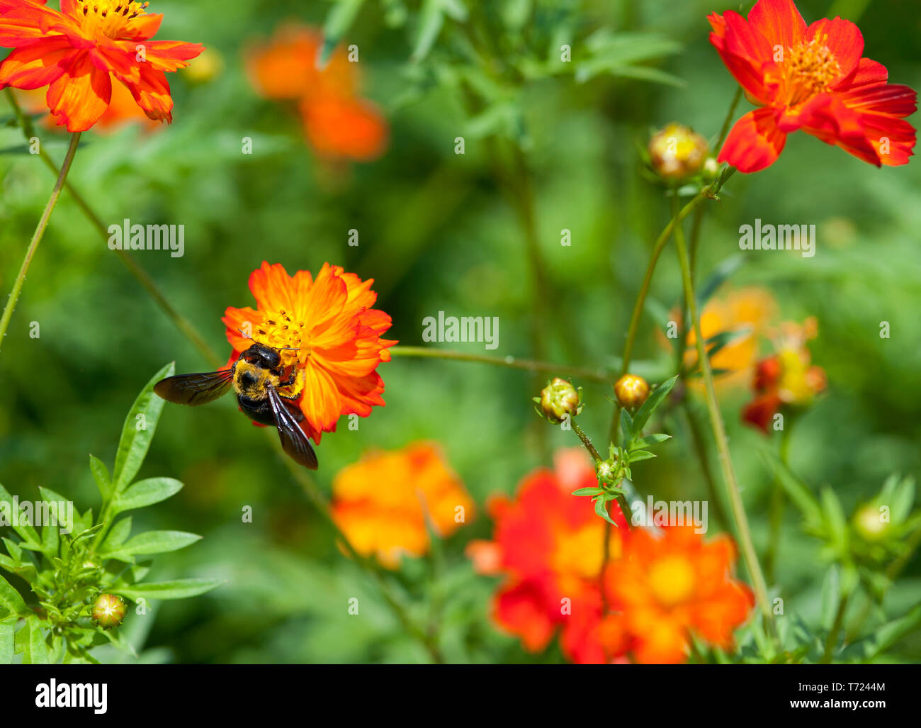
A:
{"type": "Polygon", "coordinates": [[[111,76],[131,91],[150,119],[172,121],[166,71],[204,47],[151,41],[162,15],[127,0],[0,0],[0,46],[14,48],[0,64],[0,88],[48,86],[48,107],[69,132],[99,121],[112,99],[111,76]]]}

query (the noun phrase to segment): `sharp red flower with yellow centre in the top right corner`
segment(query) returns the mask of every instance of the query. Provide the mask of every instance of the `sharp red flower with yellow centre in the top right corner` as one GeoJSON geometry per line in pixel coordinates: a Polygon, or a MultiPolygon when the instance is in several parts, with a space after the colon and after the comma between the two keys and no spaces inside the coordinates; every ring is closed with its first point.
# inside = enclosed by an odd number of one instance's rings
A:
{"type": "Polygon", "coordinates": [[[764,170],[787,134],[802,129],[870,164],[906,164],[915,129],[915,91],[886,83],[884,65],[861,58],[863,36],[849,20],[806,25],[792,0],[759,0],[748,20],[731,10],[707,18],[710,42],[746,96],[745,114],[719,153],[742,172],[764,170]]]}

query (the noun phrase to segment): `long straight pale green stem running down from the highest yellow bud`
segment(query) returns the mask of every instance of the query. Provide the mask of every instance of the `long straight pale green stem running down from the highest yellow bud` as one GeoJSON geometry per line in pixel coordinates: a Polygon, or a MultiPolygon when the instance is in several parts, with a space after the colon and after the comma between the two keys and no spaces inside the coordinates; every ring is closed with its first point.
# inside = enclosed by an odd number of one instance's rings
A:
{"type": "MultiPolygon", "coordinates": [[[[677,217],[677,199],[673,200],[672,206],[677,217]]],[[[742,504],[739,491],[739,483],[736,481],[736,474],[732,467],[732,458],[729,453],[729,442],[726,439],[726,429],[723,425],[723,417],[719,412],[717,391],[713,384],[713,370],[710,368],[710,359],[706,356],[704,336],[701,334],[700,316],[697,311],[697,298],[694,293],[694,280],[691,277],[691,263],[688,260],[687,246],[684,243],[684,231],[681,225],[675,228],[675,247],[678,249],[678,261],[682,268],[684,301],[688,311],[691,313],[691,323],[694,326],[697,358],[700,361],[701,375],[704,379],[704,392],[706,408],[710,416],[710,428],[713,430],[713,437],[717,442],[719,463],[722,467],[726,487],[729,490],[729,502],[736,521],[736,530],[739,536],[742,557],[745,559],[745,565],[752,578],[755,597],[764,615],[764,624],[767,625],[771,634],[775,635],[774,615],[771,610],[771,605],[768,602],[764,574],[762,573],[761,565],[758,563],[758,556],[752,544],[752,532],[749,529],[748,517],[745,515],[745,507],[742,504]]]]}

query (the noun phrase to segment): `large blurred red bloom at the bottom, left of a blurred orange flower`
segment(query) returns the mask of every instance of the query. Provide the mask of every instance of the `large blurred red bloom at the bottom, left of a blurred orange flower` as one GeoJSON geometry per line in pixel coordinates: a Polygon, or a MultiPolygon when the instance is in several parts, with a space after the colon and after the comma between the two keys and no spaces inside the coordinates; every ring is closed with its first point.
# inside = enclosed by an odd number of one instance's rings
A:
{"type": "MultiPolygon", "coordinates": [[[[577,663],[608,662],[626,649],[621,620],[602,612],[605,523],[589,499],[570,495],[597,485],[585,452],[558,452],[554,470],[527,476],[514,500],[490,501],[494,540],[468,546],[478,571],[506,577],[493,600],[493,619],[529,652],[544,650],[557,632],[564,654],[577,663]]],[[[609,544],[617,558],[627,525],[616,504],[611,512],[620,524],[611,529],[609,544]]]]}

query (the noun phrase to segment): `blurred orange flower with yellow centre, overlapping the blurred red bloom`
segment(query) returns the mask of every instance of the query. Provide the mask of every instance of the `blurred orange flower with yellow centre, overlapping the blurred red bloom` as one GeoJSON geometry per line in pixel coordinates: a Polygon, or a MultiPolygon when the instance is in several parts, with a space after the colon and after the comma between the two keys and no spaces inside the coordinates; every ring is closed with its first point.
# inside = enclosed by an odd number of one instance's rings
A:
{"type": "Polygon", "coordinates": [[[729,575],[735,558],[728,536],[705,543],[694,526],[631,532],[606,576],[635,662],[684,662],[691,632],[731,647],[754,605],[749,588],[729,575]]]}

